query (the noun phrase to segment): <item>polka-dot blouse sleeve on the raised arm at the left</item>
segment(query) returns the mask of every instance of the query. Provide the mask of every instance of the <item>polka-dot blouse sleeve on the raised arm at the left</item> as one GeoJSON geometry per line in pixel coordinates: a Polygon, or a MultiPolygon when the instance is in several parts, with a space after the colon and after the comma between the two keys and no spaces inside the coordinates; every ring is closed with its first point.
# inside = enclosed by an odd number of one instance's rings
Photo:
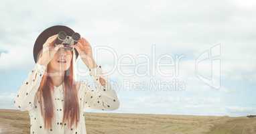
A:
{"type": "Polygon", "coordinates": [[[46,66],[36,64],[23,81],[17,95],[14,98],[14,106],[20,111],[29,111],[34,107],[34,98],[40,86],[42,76],[46,71],[46,66]]]}

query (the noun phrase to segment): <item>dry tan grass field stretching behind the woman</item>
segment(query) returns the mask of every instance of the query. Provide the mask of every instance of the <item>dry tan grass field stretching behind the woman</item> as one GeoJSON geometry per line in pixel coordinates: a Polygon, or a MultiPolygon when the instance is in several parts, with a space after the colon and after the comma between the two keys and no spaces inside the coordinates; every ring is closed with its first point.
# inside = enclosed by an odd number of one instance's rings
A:
{"type": "MultiPolygon", "coordinates": [[[[256,134],[256,117],[86,113],[88,134],[256,134]]],[[[26,112],[0,109],[0,133],[29,133],[26,112]]]]}

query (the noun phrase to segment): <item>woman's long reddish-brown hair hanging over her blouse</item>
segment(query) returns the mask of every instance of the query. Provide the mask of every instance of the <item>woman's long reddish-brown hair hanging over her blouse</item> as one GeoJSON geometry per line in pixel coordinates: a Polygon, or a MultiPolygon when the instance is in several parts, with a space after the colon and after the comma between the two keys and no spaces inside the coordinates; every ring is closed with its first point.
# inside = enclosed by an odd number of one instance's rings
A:
{"type": "MultiPolygon", "coordinates": [[[[76,127],[80,119],[79,105],[78,105],[78,92],[76,84],[73,78],[73,54],[70,64],[70,68],[64,73],[64,109],[63,109],[63,119],[62,126],[68,124],[68,127],[71,128],[74,123],[76,127]]],[[[40,54],[42,55],[42,52],[40,54]]],[[[44,127],[45,129],[52,128],[52,119],[54,117],[54,104],[52,98],[52,91],[54,90],[54,85],[52,84],[52,78],[46,72],[42,76],[42,81],[38,89],[38,102],[40,103],[40,109],[42,117],[44,118],[44,127]]]]}

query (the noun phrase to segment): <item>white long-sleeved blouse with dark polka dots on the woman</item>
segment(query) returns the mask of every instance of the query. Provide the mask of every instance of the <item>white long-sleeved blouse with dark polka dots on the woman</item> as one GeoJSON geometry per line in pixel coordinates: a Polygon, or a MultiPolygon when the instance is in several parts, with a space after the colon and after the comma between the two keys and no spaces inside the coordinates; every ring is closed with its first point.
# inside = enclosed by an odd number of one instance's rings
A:
{"type": "Polygon", "coordinates": [[[30,133],[81,133],[86,134],[85,127],[85,115],[84,109],[98,109],[101,111],[112,111],[119,108],[119,100],[115,90],[105,76],[102,74],[102,66],[90,68],[90,76],[94,80],[96,86],[90,86],[84,80],[76,82],[78,86],[78,103],[80,118],[78,120],[78,127],[72,126],[70,129],[68,123],[62,123],[62,117],[64,115],[64,92],[62,84],[60,86],[54,86],[52,92],[52,101],[54,103],[54,115],[56,118],[53,119],[52,127],[50,129],[44,128],[44,119],[41,115],[40,100],[36,97],[40,82],[46,66],[36,64],[36,66],[29,72],[27,78],[23,84],[19,86],[17,96],[13,100],[13,104],[20,111],[28,111],[30,117],[30,133]],[[105,84],[101,84],[99,78],[105,80],[105,84]],[[55,123],[54,123],[55,122],[55,123]]]}

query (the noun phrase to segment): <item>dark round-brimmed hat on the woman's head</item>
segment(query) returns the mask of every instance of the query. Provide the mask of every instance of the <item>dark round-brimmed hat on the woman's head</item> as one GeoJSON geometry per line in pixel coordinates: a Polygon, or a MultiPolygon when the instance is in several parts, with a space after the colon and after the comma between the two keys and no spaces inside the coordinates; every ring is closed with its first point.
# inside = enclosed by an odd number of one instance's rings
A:
{"type": "MultiPolygon", "coordinates": [[[[42,33],[38,36],[36,39],[36,42],[34,44],[34,61],[37,62],[37,57],[42,50],[44,43],[50,36],[54,36],[55,34],[58,34],[59,31],[65,31],[68,36],[72,36],[74,34],[74,30],[72,30],[70,27],[64,26],[64,25],[54,25],[52,27],[48,27],[42,33]]],[[[78,52],[76,49],[74,49],[74,52],[76,53],[76,59],[78,58],[78,52]]]]}

